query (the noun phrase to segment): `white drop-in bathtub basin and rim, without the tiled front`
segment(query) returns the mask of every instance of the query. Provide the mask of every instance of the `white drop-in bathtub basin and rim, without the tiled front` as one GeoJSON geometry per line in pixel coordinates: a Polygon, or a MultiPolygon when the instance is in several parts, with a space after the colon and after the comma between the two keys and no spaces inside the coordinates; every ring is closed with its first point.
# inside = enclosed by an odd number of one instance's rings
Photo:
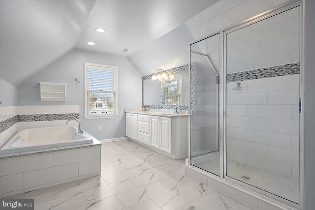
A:
{"type": "Polygon", "coordinates": [[[93,143],[90,135],[77,131],[75,126],[20,130],[0,149],[0,154],[93,143]]]}

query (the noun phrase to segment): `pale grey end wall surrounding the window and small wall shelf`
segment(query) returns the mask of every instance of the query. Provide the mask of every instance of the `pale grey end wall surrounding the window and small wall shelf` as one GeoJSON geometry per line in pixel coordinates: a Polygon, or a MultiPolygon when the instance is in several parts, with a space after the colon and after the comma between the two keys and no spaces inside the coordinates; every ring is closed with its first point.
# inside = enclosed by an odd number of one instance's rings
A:
{"type": "Polygon", "coordinates": [[[124,137],[124,109],[141,107],[141,79],[125,57],[74,49],[25,80],[18,87],[18,105],[79,105],[81,127],[96,139],[124,137]],[[84,119],[84,62],[118,66],[119,118],[84,119]],[[75,83],[76,76],[79,76],[80,84],[75,83]],[[39,81],[68,83],[66,101],[40,101],[39,81]],[[102,126],[102,131],[98,131],[98,126],[102,126]]]}

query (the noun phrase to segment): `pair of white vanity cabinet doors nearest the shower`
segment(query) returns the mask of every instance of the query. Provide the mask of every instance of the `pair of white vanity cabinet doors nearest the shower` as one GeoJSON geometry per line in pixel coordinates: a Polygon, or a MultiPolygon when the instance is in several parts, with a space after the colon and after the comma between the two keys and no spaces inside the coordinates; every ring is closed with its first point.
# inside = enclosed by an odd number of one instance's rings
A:
{"type": "Polygon", "coordinates": [[[150,116],[150,124],[150,145],[168,153],[172,153],[172,119],[150,116]]]}

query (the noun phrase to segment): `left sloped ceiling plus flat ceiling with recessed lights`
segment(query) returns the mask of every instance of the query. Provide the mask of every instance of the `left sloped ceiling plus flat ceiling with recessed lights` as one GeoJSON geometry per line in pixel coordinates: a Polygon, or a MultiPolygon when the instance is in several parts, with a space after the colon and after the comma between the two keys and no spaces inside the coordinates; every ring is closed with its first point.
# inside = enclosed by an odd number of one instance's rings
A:
{"type": "Polygon", "coordinates": [[[217,1],[1,0],[0,78],[19,86],[73,48],[130,56],[217,1]]]}

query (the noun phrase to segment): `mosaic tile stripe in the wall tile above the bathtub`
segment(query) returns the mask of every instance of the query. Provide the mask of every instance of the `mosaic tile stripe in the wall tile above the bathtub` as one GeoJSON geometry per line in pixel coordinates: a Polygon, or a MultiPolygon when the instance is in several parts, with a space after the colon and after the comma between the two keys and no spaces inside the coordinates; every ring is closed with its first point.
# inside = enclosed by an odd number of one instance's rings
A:
{"type": "Polygon", "coordinates": [[[0,122],[0,133],[13,126],[17,122],[51,121],[79,119],[79,113],[71,114],[43,114],[43,115],[16,115],[8,120],[0,122]]]}

